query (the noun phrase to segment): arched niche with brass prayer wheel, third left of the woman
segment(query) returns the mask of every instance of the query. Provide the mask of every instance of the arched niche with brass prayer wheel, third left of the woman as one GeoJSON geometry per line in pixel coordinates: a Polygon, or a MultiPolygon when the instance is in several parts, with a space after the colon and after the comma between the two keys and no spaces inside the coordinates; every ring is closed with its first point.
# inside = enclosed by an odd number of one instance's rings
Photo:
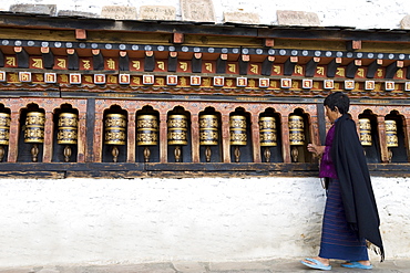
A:
{"type": "Polygon", "coordinates": [[[253,162],[250,113],[237,107],[229,114],[230,161],[253,162]]]}

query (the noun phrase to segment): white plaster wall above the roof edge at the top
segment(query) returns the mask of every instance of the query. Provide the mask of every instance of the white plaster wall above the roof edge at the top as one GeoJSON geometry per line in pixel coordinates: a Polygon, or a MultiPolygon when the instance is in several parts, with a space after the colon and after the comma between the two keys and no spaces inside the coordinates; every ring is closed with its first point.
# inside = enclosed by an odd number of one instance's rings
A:
{"type": "MultiPolygon", "coordinates": [[[[57,4],[58,10],[74,10],[100,14],[103,6],[173,6],[181,20],[180,0],[2,0],[0,10],[11,4],[57,4]]],[[[224,11],[245,11],[259,14],[262,24],[277,24],[277,10],[316,12],[321,27],[355,27],[357,29],[400,29],[400,21],[410,13],[408,0],[213,0],[217,23],[223,22],[224,11]]]]}

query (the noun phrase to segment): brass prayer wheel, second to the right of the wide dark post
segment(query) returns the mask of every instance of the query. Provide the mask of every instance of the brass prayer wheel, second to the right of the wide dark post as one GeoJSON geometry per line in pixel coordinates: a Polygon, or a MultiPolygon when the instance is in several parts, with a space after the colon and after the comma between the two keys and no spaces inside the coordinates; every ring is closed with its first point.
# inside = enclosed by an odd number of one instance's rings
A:
{"type": "Polygon", "coordinates": [[[136,118],[136,145],[157,145],[158,119],[154,115],[140,115],[136,118]]]}

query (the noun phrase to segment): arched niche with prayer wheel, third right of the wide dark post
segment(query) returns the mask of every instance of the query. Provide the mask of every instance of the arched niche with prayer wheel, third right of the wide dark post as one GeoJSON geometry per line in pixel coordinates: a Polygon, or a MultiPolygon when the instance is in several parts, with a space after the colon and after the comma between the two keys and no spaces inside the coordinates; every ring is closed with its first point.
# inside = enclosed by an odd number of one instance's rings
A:
{"type": "Polygon", "coordinates": [[[192,162],[191,113],[182,106],[168,112],[167,126],[167,161],[192,162]]]}

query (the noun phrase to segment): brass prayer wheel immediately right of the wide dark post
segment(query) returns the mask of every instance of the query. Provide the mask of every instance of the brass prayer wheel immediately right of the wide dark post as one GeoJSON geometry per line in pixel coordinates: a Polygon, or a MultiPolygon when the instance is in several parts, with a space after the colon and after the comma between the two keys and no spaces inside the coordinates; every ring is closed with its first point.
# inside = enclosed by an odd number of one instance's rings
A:
{"type": "Polygon", "coordinates": [[[105,116],[105,144],[125,145],[126,117],[122,114],[107,114],[105,116]]]}

